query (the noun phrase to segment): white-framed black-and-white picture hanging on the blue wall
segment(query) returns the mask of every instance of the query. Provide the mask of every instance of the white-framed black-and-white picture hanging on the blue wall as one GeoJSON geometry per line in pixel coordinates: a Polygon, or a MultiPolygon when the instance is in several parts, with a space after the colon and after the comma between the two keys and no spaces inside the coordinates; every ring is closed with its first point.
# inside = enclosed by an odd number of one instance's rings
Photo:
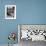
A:
{"type": "Polygon", "coordinates": [[[16,5],[5,5],[5,19],[16,19],[16,5]]]}

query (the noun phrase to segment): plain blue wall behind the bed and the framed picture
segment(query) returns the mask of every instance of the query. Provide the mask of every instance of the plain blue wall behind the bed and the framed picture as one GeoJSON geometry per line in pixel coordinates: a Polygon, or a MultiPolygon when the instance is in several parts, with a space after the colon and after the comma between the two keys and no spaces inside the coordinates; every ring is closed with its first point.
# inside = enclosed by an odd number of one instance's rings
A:
{"type": "Polygon", "coordinates": [[[46,24],[46,0],[0,0],[0,43],[8,42],[9,32],[18,31],[17,24],[46,24]],[[16,4],[16,20],[4,19],[7,4],[16,4]]]}

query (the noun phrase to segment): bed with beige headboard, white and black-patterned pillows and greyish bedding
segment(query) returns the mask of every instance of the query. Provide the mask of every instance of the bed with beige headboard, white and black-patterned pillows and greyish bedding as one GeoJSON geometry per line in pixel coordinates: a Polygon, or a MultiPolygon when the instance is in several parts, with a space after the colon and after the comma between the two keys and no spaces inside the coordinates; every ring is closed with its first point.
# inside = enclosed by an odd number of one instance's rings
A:
{"type": "Polygon", "coordinates": [[[18,42],[20,46],[43,46],[46,44],[46,25],[19,24],[18,42]]]}

